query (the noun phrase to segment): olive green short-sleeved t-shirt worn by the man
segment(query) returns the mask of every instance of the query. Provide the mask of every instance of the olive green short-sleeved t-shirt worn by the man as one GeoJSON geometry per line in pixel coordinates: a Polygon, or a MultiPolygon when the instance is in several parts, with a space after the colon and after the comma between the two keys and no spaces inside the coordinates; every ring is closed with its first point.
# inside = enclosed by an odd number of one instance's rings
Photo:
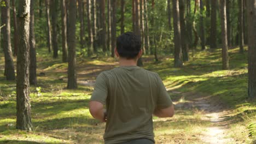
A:
{"type": "Polygon", "coordinates": [[[159,75],[137,66],[103,71],[97,76],[90,100],[106,105],[106,144],[154,141],[153,112],[172,105],[159,75]]]}

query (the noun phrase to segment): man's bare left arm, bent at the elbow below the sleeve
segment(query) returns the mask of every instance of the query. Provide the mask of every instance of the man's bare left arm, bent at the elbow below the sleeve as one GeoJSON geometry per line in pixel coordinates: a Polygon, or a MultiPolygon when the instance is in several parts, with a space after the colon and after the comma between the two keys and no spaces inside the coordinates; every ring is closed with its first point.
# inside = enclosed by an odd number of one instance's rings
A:
{"type": "Polygon", "coordinates": [[[104,109],[103,104],[98,101],[90,101],[89,110],[92,117],[101,122],[106,122],[106,109],[104,109]]]}

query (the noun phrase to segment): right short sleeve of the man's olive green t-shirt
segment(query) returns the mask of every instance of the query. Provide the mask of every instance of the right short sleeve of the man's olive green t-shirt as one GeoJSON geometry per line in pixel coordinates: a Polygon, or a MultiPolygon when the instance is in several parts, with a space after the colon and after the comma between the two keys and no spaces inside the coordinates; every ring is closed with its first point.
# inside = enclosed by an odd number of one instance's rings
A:
{"type": "Polygon", "coordinates": [[[170,107],[172,105],[172,100],[170,98],[170,95],[166,91],[164,83],[162,83],[162,80],[158,74],[157,74],[157,80],[158,80],[158,100],[156,102],[156,109],[166,109],[167,107],[170,107]]]}

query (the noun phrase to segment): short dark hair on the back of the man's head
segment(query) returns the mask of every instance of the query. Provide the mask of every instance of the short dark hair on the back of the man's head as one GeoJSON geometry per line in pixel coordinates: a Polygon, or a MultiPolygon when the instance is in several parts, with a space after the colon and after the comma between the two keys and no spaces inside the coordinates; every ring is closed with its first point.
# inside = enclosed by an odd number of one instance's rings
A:
{"type": "Polygon", "coordinates": [[[117,51],[120,57],[133,59],[138,56],[141,50],[141,38],[132,33],[126,32],[117,38],[117,51]]]}

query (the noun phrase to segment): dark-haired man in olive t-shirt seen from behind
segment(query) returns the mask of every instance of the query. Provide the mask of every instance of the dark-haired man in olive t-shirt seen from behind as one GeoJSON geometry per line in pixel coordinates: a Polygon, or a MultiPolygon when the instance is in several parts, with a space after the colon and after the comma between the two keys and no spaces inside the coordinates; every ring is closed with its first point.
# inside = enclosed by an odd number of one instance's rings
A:
{"type": "Polygon", "coordinates": [[[106,123],[104,142],[155,143],[152,115],[172,117],[174,108],[159,75],[137,67],[141,40],[132,32],[117,38],[119,67],[97,76],[89,107],[106,123]],[[106,105],[106,109],[104,109],[106,105]]]}

